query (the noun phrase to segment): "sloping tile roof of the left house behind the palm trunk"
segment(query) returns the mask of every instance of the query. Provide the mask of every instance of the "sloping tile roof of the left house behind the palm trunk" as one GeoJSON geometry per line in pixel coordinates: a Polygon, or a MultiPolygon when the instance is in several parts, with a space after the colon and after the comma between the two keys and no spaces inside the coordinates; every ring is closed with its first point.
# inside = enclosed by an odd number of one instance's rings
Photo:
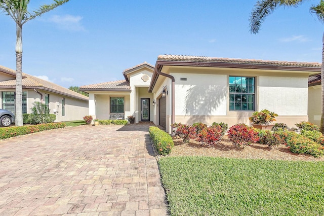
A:
{"type": "MultiPolygon", "coordinates": [[[[13,69],[10,69],[8,67],[4,67],[0,65],[0,73],[6,73],[9,75],[13,75],[16,77],[16,71],[13,69]]],[[[75,91],[69,90],[67,88],[64,88],[62,86],[56,85],[54,83],[51,83],[46,80],[39,79],[37,77],[28,75],[23,73],[22,74],[22,86],[23,88],[35,88],[35,89],[44,89],[46,91],[62,94],[65,96],[82,99],[82,100],[89,100],[89,97],[84,96],[82,94],[79,94],[75,91]]],[[[0,87],[1,88],[15,88],[16,87],[16,80],[8,80],[8,81],[0,81],[0,87]]]]}

